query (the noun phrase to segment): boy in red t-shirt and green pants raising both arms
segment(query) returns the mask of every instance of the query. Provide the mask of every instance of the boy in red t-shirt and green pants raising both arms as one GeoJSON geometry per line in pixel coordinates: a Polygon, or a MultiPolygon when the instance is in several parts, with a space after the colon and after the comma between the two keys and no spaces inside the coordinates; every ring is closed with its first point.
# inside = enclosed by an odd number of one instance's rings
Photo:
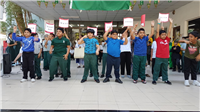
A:
{"type": "Polygon", "coordinates": [[[156,33],[156,43],[157,43],[157,51],[156,51],[156,61],[154,66],[154,74],[153,74],[153,82],[152,84],[156,85],[156,81],[158,80],[158,76],[160,71],[162,72],[162,80],[171,85],[172,83],[168,80],[168,58],[169,58],[169,42],[171,35],[171,28],[173,20],[170,18],[170,25],[168,33],[165,30],[160,30],[159,27],[161,24],[160,19],[158,19],[157,33],[156,33]]]}

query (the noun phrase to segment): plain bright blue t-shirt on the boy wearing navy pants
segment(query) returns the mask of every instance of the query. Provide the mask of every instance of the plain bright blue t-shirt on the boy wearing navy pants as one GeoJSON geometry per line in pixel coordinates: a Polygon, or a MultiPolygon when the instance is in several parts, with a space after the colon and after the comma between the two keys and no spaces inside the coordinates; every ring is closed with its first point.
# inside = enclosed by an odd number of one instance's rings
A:
{"type": "Polygon", "coordinates": [[[113,39],[113,38],[108,38],[106,40],[107,43],[107,52],[109,55],[113,57],[120,57],[120,45],[124,44],[123,40],[120,39],[113,39]]]}

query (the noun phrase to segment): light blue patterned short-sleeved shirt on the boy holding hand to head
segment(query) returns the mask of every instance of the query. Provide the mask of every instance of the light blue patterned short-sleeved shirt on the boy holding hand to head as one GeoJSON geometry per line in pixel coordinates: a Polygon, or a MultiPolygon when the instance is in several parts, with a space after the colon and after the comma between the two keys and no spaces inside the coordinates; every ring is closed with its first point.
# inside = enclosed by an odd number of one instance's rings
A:
{"type": "Polygon", "coordinates": [[[92,38],[85,38],[83,39],[83,41],[85,42],[85,53],[86,54],[96,54],[96,45],[99,45],[99,42],[97,41],[97,39],[92,38]]]}

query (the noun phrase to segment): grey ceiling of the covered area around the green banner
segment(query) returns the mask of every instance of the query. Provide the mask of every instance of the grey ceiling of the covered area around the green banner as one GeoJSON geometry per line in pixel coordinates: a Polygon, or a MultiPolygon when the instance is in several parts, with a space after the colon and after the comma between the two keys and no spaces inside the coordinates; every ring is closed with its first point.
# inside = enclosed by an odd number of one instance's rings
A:
{"type": "MultiPolygon", "coordinates": [[[[35,15],[45,19],[45,20],[58,20],[62,16],[78,16],[79,18],[69,18],[73,21],[122,21],[124,17],[133,17],[134,20],[140,20],[141,15],[146,14],[146,20],[153,20],[158,18],[158,13],[168,13],[171,12],[183,5],[188,4],[193,0],[172,0],[171,3],[168,3],[168,0],[160,0],[158,7],[155,8],[152,5],[150,9],[147,8],[148,0],[144,0],[144,5],[140,10],[138,7],[139,0],[132,11],[120,10],[120,11],[82,11],[69,9],[69,0],[63,0],[63,3],[67,3],[65,9],[62,8],[62,5],[59,3],[53,8],[51,2],[55,0],[50,0],[48,7],[45,7],[45,4],[42,2],[39,7],[37,0],[12,0],[17,5],[22,8],[34,13],[35,15]]],[[[49,1],[49,0],[46,0],[49,1]]],[[[116,0],[113,0],[116,1],[116,0]]],[[[133,0],[131,0],[133,2],[133,0]]],[[[64,18],[64,17],[62,17],[64,18]]]]}

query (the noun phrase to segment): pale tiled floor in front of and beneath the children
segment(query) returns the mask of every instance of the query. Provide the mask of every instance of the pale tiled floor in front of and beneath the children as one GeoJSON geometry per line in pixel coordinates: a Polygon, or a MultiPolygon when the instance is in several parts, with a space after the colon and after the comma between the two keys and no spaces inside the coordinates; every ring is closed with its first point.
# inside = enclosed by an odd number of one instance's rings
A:
{"type": "MultiPolygon", "coordinates": [[[[14,67],[9,78],[1,77],[1,108],[3,109],[53,109],[53,110],[149,110],[149,111],[199,111],[199,87],[183,85],[183,73],[171,72],[172,85],[160,79],[152,85],[152,77],[147,84],[133,84],[127,77],[123,84],[114,82],[100,84],[88,78],[80,83],[83,68],[76,68],[72,61],[72,78],[67,82],[55,78],[48,82],[49,72],[42,71],[42,80],[20,83],[22,72],[14,67]]],[[[99,66],[101,70],[101,66],[99,66]]],[[[151,68],[147,68],[151,74],[151,68]]],[[[114,77],[114,74],[112,74],[114,77]]],[[[198,75],[198,79],[200,75],[198,75]]],[[[192,83],[192,81],[191,81],[192,83]]]]}

